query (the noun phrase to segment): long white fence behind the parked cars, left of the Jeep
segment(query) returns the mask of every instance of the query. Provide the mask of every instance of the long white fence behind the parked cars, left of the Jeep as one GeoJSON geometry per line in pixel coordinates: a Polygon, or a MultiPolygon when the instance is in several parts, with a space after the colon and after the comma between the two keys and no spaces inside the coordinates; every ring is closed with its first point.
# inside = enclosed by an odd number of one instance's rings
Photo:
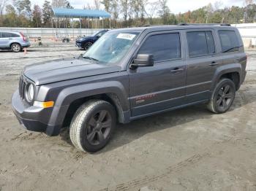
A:
{"type": "Polygon", "coordinates": [[[89,36],[96,31],[102,30],[102,28],[12,28],[12,27],[0,27],[0,31],[20,31],[30,38],[34,37],[77,37],[77,36],[89,36]]]}

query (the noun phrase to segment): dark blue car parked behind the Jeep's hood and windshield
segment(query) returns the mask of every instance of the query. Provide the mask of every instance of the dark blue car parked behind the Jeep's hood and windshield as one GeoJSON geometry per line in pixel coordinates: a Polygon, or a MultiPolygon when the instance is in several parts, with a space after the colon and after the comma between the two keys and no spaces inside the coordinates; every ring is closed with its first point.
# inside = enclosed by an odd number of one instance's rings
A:
{"type": "Polygon", "coordinates": [[[97,39],[99,39],[106,32],[108,32],[108,30],[97,31],[91,36],[80,37],[75,41],[75,46],[82,48],[83,50],[88,50],[89,47],[91,47],[91,45],[94,44],[94,42],[96,42],[97,39]]]}

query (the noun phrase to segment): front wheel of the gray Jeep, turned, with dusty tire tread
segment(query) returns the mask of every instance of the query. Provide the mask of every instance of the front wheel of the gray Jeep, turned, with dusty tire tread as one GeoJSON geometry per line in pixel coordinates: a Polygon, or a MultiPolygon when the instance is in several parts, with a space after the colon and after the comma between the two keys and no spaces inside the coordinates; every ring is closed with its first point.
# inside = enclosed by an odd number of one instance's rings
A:
{"type": "Polygon", "coordinates": [[[80,106],[69,130],[72,144],[83,152],[97,152],[108,144],[116,127],[116,110],[107,101],[94,100],[80,106]]]}

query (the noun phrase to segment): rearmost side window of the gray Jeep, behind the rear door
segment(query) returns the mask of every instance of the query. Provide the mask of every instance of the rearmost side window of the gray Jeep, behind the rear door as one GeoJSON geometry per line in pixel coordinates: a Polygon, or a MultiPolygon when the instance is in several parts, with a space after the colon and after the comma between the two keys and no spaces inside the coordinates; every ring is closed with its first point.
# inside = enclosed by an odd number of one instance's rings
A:
{"type": "Polygon", "coordinates": [[[219,31],[222,52],[233,52],[239,49],[238,37],[235,31],[219,31]]]}

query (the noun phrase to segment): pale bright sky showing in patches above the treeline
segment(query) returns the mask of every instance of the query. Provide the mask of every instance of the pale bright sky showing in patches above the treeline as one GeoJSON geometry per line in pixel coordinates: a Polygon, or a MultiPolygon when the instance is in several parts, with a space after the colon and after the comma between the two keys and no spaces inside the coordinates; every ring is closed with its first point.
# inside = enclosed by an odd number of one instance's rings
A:
{"type": "MultiPolygon", "coordinates": [[[[149,0],[149,1],[156,1],[156,0],[149,0]]],[[[217,0],[168,0],[168,7],[170,8],[170,11],[177,14],[179,12],[187,12],[188,10],[195,10],[200,7],[206,6],[209,3],[214,4],[214,2],[217,0]]],[[[219,1],[219,0],[218,0],[219,1]]],[[[244,6],[244,0],[221,0],[222,1],[222,7],[231,7],[231,6],[244,6]]],[[[254,0],[256,2],[256,0],[254,0]]],[[[44,0],[31,0],[31,3],[39,4],[39,6],[42,6],[44,0]]],[[[70,4],[77,8],[82,9],[85,4],[90,4],[93,2],[92,0],[69,0],[70,4]]],[[[103,7],[102,7],[103,8],[103,7]]]]}

